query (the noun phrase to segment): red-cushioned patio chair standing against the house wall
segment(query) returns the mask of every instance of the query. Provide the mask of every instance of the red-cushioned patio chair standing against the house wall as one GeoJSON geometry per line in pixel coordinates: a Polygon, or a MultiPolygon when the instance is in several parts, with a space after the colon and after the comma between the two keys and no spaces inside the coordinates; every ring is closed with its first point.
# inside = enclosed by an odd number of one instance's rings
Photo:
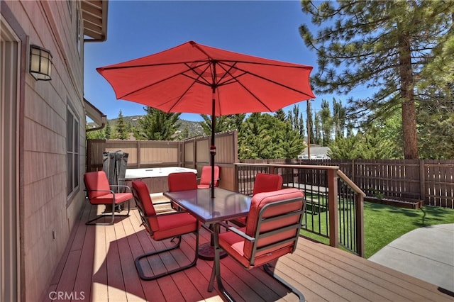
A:
{"type": "Polygon", "coordinates": [[[106,208],[111,208],[111,214],[101,214],[95,218],[88,220],[86,225],[113,225],[115,217],[127,217],[131,210],[129,202],[133,198],[131,194],[131,188],[125,185],[110,185],[107,179],[106,172],[95,171],[87,172],[84,174],[84,184],[86,198],[92,205],[104,204],[106,208]],[[129,192],[116,193],[113,188],[125,188],[129,192]],[[121,203],[128,202],[128,213],[126,214],[115,214],[115,208],[121,203]],[[111,217],[108,223],[93,223],[95,220],[104,217],[111,217]]]}

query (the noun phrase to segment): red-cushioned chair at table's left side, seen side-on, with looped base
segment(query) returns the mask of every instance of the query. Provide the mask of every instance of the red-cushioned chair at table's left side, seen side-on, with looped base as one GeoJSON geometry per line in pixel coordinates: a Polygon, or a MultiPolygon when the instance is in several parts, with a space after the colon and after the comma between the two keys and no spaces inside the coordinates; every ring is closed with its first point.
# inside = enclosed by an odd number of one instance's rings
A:
{"type": "Polygon", "coordinates": [[[135,269],[137,269],[140,279],[154,280],[162,276],[180,272],[183,269],[188,269],[189,267],[194,267],[197,262],[197,253],[199,252],[199,221],[194,218],[194,216],[184,211],[162,213],[157,215],[150,197],[150,191],[148,191],[148,186],[143,181],[133,181],[133,195],[135,204],[140,214],[140,219],[142,220],[142,225],[145,226],[145,230],[147,230],[153,240],[160,241],[177,237],[177,242],[175,243],[175,245],[166,247],[162,250],[148,252],[135,258],[135,269]],[[179,245],[182,241],[182,235],[189,233],[194,233],[194,235],[196,236],[194,259],[192,259],[189,264],[171,269],[160,274],[151,276],[145,275],[143,267],[140,265],[141,259],[179,248],[179,245]]]}

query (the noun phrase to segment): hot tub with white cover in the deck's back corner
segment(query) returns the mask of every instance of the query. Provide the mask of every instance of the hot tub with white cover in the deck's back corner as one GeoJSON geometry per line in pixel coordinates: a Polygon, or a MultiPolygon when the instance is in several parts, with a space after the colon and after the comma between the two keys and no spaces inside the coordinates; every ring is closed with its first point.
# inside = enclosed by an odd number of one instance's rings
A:
{"type": "Polygon", "coordinates": [[[170,173],[192,172],[197,174],[196,169],[183,167],[161,167],[145,169],[126,169],[126,185],[131,186],[133,179],[140,179],[147,184],[150,193],[169,191],[167,177],[170,173]]]}

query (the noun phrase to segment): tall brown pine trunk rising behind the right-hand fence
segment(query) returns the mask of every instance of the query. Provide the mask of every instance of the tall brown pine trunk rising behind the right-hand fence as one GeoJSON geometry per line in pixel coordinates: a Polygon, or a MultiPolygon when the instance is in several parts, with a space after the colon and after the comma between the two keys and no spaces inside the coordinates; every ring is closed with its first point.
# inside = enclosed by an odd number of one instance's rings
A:
{"type": "Polygon", "coordinates": [[[399,35],[399,73],[402,96],[402,138],[404,140],[404,158],[417,160],[418,136],[416,135],[416,106],[414,103],[414,80],[411,68],[411,48],[408,33],[399,35]]]}

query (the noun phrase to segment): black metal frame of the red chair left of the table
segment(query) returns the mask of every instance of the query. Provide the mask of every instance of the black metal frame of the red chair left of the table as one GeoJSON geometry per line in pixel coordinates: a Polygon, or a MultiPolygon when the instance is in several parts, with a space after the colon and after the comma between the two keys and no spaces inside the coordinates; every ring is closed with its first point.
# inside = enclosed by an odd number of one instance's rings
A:
{"type": "MultiPolygon", "coordinates": [[[[142,223],[140,225],[147,225],[147,229],[150,230],[150,235],[151,236],[153,236],[153,230],[151,229],[151,225],[148,222],[148,218],[154,218],[154,217],[158,217],[158,216],[159,217],[172,216],[172,215],[177,215],[177,214],[181,214],[182,213],[182,211],[177,211],[177,212],[171,212],[171,213],[157,214],[157,215],[153,215],[153,216],[145,216],[145,210],[143,208],[143,203],[140,200],[140,198],[138,197],[138,194],[135,192],[135,189],[133,189],[133,196],[134,196],[135,204],[136,204],[136,206],[138,208],[138,211],[139,211],[139,214],[140,214],[140,219],[142,220],[142,223]]],[[[159,203],[159,204],[166,204],[166,203],[170,203],[170,201],[169,202],[162,202],[162,203],[159,203]]],[[[198,220],[197,220],[197,223],[199,223],[198,220]]],[[[196,263],[197,263],[197,255],[199,253],[199,228],[197,228],[196,231],[189,232],[189,233],[180,234],[177,237],[173,237],[172,236],[172,237],[162,238],[162,240],[166,240],[166,239],[172,238],[172,240],[170,240],[170,241],[173,241],[175,238],[177,238],[177,242],[175,243],[175,245],[172,245],[171,247],[167,247],[165,249],[157,250],[157,251],[154,251],[154,252],[148,252],[146,254],[143,254],[143,255],[140,255],[140,256],[136,257],[134,259],[134,264],[135,264],[135,269],[137,269],[137,272],[138,272],[138,274],[140,276],[140,279],[143,279],[143,280],[155,280],[155,279],[158,279],[158,278],[160,278],[162,276],[167,276],[167,275],[170,275],[170,274],[174,274],[176,272],[180,272],[180,271],[182,271],[184,269],[189,269],[189,267],[194,267],[194,265],[196,265],[196,263]],[[163,252],[169,252],[171,250],[175,250],[175,249],[179,248],[179,245],[182,242],[182,235],[186,235],[186,234],[189,234],[189,233],[194,233],[194,235],[196,236],[196,247],[195,247],[195,252],[194,252],[194,259],[192,259],[192,262],[190,262],[189,264],[184,265],[182,267],[177,267],[176,269],[172,269],[170,271],[167,271],[165,273],[156,274],[156,275],[153,275],[153,276],[145,275],[145,273],[143,272],[143,268],[140,265],[140,260],[141,259],[147,258],[147,257],[151,257],[153,255],[158,255],[158,254],[161,254],[163,252]]],[[[157,240],[155,240],[155,241],[157,241],[157,240]]]]}

